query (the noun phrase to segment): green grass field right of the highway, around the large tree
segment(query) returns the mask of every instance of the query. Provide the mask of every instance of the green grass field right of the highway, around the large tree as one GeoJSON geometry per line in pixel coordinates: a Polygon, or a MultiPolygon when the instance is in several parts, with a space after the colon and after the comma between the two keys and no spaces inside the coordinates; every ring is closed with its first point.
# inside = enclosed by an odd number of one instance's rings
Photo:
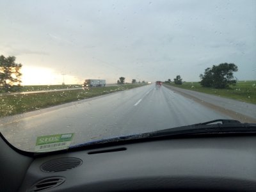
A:
{"type": "Polygon", "coordinates": [[[185,82],[181,85],[172,82],[170,85],[256,104],[256,81],[239,81],[236,85],[227,89],[204,88],[198,82],[185,82]]]}

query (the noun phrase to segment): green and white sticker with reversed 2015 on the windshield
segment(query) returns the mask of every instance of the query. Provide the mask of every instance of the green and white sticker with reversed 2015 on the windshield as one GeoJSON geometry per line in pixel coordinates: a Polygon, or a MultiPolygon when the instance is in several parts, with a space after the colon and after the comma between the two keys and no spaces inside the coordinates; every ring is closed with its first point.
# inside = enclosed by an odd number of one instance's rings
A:
{"type": "Polygon", "coordinates": [[[36,138],[35,152],[63,150],[70,146],[74,133],[52,134],[36,138]]]}

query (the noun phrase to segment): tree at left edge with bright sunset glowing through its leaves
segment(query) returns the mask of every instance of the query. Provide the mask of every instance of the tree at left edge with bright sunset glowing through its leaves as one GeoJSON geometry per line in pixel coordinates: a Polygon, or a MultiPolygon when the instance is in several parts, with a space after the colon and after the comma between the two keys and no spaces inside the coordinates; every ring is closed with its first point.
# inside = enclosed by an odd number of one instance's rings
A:
{"type": "Polygon", "coordinates": [[[5,58],[0,56],[0,88],[4,92],[12,92],[20,90],[20,68],[21,64],[15,63],[16,58],[14,56],[8,56],[5,58]]]}

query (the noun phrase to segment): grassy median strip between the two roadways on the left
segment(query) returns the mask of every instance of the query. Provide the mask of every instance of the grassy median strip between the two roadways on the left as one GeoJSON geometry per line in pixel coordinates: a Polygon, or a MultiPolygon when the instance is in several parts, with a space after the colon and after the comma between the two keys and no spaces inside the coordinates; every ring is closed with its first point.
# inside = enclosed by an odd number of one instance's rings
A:
{"type": "Polygon", "coordinates": [[[105,95],[143,86],[145,84],[124,84],[120,86],[108,86],[89,88],[88,90],[65,90],[59,92],[30,93],[17,95],[0,94],[0,116],[10,116],[36,109],[47,108],[76,100],[105,95]]]}

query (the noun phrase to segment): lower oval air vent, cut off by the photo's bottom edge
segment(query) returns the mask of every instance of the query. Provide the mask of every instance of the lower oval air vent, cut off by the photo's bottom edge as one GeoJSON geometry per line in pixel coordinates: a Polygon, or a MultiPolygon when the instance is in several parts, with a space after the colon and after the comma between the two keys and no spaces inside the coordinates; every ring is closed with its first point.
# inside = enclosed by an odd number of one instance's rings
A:
{"type": "Polygon", "coordinates": [[[36,182],[35,185],[29,190],[29,192],[40,192],[45,191],[47,189],[56,188],[65,182],[65,178],[63,177],[51,177],[47,179],[40,180],[36,182]]]}

